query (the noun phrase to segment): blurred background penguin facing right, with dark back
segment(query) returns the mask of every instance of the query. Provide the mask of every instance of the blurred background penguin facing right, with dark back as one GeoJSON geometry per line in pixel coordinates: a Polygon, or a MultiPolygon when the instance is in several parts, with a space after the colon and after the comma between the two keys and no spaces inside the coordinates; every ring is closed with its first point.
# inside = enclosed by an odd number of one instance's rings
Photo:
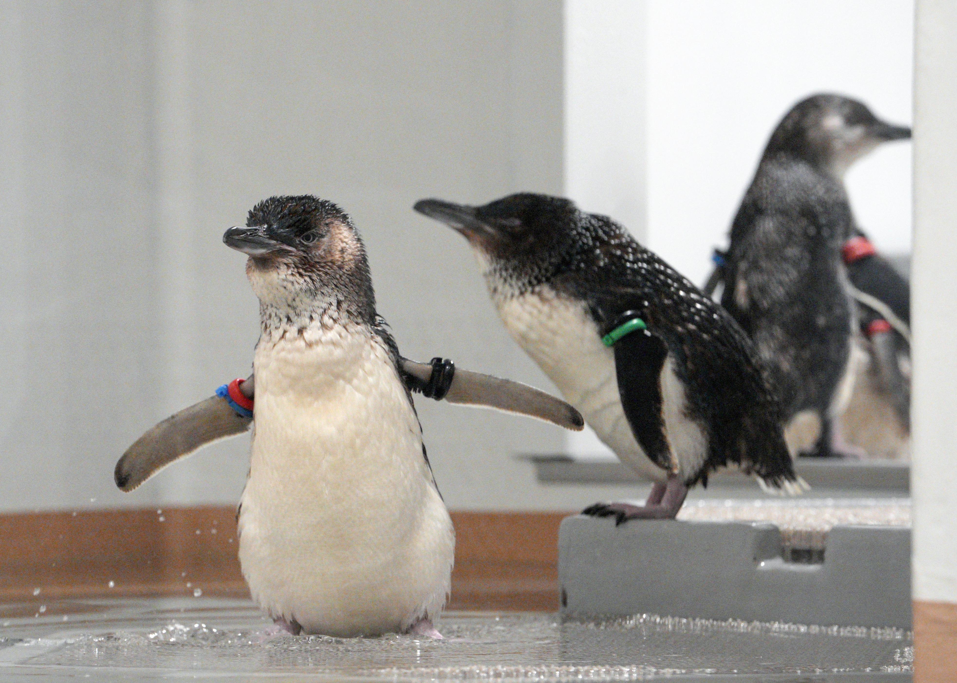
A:
{"type": "Polygon", "coordinates": [[[732,223],[722,303],[771,369],[792,455],[846,454],[831,433],[855,374],[841,258],[855,222],[842,178],[879,143],[909,137],[855,99],[804,99],[771,134],[732,223]]]}

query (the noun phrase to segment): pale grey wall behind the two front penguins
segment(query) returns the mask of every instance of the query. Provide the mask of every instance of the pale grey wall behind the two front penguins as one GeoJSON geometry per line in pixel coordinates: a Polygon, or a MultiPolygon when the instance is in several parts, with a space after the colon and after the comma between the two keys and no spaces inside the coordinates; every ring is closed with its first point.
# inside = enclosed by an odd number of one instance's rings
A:
{"type": "MultiPolygon", "coordinates": [[[[562,191],[562,7],[550,0],[0,4],[0,510],[232,503],[236,439],[131,495],[143,430],[245,375],[257,306],[222,233],[313,192],[363,232],[405,354],[547,386],[464,242],[412,211],[562,191]]],[[[456,509],[574,509],[519,452],[556,428],[419,400],[456,509]]]]}

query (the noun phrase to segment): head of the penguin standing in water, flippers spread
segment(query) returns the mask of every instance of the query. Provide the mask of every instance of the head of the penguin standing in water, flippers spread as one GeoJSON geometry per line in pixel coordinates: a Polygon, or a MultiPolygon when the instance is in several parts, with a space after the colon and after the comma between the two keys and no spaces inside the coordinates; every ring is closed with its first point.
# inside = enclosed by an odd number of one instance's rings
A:
{"type": "Polygon", "coordinates": [[[223,242],[249,255],[246,275],[256,297],[280,307],[315,299],[353,302],[374,316],[366,249],[343,209],[311,195],[270,197],[250,210],[245,226],[223,242]]]}

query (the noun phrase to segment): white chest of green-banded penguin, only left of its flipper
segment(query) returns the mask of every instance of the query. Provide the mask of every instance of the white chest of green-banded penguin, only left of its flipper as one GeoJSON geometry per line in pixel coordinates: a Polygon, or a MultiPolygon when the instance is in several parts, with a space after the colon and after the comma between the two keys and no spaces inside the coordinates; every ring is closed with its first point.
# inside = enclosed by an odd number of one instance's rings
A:
{"type": "Polygon", "coordinates": [[[497,298],[496,303],[512,337],[578,408],[598,438],[639,474],[663,481],[667,473],[634,438],[621,407],[614,354],[601,342],[585,305],[548,288],[497,298]]]}

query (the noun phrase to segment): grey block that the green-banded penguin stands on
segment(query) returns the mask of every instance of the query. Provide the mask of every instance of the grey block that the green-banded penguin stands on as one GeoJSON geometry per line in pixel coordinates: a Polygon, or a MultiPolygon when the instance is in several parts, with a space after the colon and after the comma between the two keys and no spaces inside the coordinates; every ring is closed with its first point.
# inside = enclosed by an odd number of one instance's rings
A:
{"type": "Polygon", "coordinates": [[[784,562],[767,522],[581,515],[558,539],[562,613],[912,628],[910,530],[836,526],[822,564],[784,562]]]}

